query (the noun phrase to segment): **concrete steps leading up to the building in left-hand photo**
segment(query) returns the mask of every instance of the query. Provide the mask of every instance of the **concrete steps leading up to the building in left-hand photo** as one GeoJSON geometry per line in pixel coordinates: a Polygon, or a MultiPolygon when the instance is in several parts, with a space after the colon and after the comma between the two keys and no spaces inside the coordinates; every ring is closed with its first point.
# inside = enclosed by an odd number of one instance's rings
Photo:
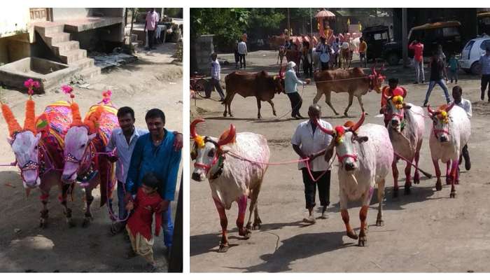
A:
{"type": "Polygon", "coordinates": [[[77,66],[84,78],[93,78],[101,73],[94,66],[94,59],[87,58],[87,50],[80,49],[78,41],[70,41],[70,34],[64,32],[66,25],[54,22],[40,22],[34,29],[59,59],[69,66],[77,66]]]}

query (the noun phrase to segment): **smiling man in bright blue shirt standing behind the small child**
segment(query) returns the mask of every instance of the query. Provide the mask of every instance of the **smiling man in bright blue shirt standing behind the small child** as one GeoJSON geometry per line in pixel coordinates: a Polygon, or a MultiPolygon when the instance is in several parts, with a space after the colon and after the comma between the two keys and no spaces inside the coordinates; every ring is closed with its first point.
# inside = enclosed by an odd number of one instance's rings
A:
{"type": "Polygon", "coordinates": [[[181,151],[175,151],[175,135],[165,129],[165,114],[160,109],[148,111],[145,120],[150,133],[139,137],[134,146],[126,188],[128,193],[135,195],[141,186],[141,179],[148,172],[153,172],[160,179],[162,186],[158,188],[158,193],[163,199],[160,205],[163,237],[169,252],[174,235],[170,202],[174,200],[181,151]]]}

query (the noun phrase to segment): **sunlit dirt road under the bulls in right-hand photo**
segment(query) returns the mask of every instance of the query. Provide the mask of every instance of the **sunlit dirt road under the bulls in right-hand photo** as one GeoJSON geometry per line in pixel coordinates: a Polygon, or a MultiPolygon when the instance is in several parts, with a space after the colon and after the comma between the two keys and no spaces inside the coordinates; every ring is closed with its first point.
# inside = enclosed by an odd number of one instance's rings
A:
{"type": "MultiPolygon", "coordinates": [[[[221,60],[233,60],[231,55],[220,55],[221,60]]],[[[277,73],[276,52],[252,52],[247,57],[249,71],[266,69],[277,73]]],[[[234,67],[235,64],[233,63],[234,67]]],[[[230,72],[229,67],[225,71],[230,72]]],[[[408,102],[421,106],[428,84],[413,85],[413,69],[388,68],[389,78],[398,76],[408,90],[408,102]]],[[[426,75],[427,75],[426,71],[426,75]]],[[[337,164],[332,169],[330,186],[329,218],[317,220],[315,225],[305,225],[304,192],[300,171],[296,165],[271,166],[267,170],[258,199],[262,228],[253,231],[251,239],[239,237],[235,220],[237,205],[227,212],[230,230],[228,253],[217,253],[221,237],[218,213],[211,200],[209,183],[190,181],[190,269],[191,272],[489,272],[490,260],[490,174],[488,170],[490,128],[488,117],[490,104],[479,101],[477,77],[461,75],[463,98],[473,102],[472,134],[469,150],[472,169],[461,172],[461,184],[456,186],[458,197],[449,199],[450,186],[435,191],[435,179],[422,177],[421,183],[412,188],[412,195],[400,195],[392,199],[393,177],[387,178],[384,202],[384,227],[374,225],[377,198],[373,195],[367,222],[367,247],[346,237],[344,223],[339,214],[337,164]]],[[[428,80],[428,76],[426,77],[428,80]]],[[[452,85],[449,85],[450,90],[452,85]]],[[[308,85],[300,94],[304,99],[302,116],[312,103],[316,88],[308,85]]],[[[213,93],[213,98],[218,95],[213,93]]],[[[443,104],[442,90],[437,87],[430,97],[430,104],[443,104]]],[[[346,120],[358,120],[360,107],[354,100],[351,118],[332,116],[322,97],[323,119],[332,125],[342,125],[346,120]]],[[[369,92],[363,98],[370,114],[365,123],[382,124],[376,118],[380,95],[369,92]]],[[[223,106],[213,100],[197,100],[199,108],[193,108],[193,116],[203,116],[200,124],[202,135],[219,136],[234,123],[237,132],[263,134],[271,150],[271,162],[297,158],[290,146],[290,137],[302,120],[290,119],[290,103],[285,94],[276,95],[274,104],[278,119],[272,109],[262,103],[262,120],[257,120],[255,98],[235,96],[232,111],[235,118],[223,118],[223,106]]],[[[343,112],[347,94],[332,94],[332,104],[343,112]]],[[[420,167],[435,174],[430,160],[428,134],[431,122],[426,120],[426,132],[421,150],[420,167]]],[[[193,166],[189,165],[192,172],[193,166]]],[[[401,171],[400,185],[405,176],[401,171]]],[[[441,165],[442,167],[442,165],[441,165]]],[[[442,167],[444,168],[444,167],[442,167]]],[[[464,168],[463,168],[464,169],[464,168]]],[[[412,169],[413,172],[413,169],[412,169]]],[[[444,180],[443,180],[444,181],[444,180]]],[[[401,192],[402,193],[402,192],[401,192]]],[[[318,203],[318,197],[316,197],[318,203]]],[[[358,228],[359,204],[351,204],[351,225],[358,228]]],[[[320,216],[320,214],[317,214],[320,216]]]]}

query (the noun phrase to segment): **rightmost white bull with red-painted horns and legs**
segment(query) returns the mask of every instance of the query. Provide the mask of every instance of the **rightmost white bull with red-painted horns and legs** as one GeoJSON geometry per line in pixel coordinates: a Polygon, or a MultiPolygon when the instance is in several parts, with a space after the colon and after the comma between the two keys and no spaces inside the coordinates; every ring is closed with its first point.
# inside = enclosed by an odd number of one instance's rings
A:
{"type": "Polygon", "coordinates": [[[437,110],[427,107],[433,127],[429,137],[430,156],[435,168],[437,183],[436,190],[442,190],[440,180],[441,172],[439,160],[446,163],[446,183],[451,184],[449,197],[456,197],[456,188],[459,184],[458,161],[463,147],[468,144],[471,134],[471,125],[464,109],[451,105],[440,106],[437,110]]]}

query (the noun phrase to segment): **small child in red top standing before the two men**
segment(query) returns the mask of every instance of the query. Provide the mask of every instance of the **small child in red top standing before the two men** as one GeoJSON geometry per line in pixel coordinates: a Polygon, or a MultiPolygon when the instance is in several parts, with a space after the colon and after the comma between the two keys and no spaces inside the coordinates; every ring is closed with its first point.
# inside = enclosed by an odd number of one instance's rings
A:
{"type": "Polygon", "coordinates": [[[157,192],[160,181],[155,174],[145,174],[141,183],[142,186],[138,188],[134,200],[130,200],[126,205],[127,211],[134,209],[126,225],[132,246],[128,257],[132,258],[136,254],[143,256],[148,261],[149,270],[154,272],[157,267],[153,258],[154,239],[151,235],[151,225],[155,214],[155,235],[160,235],[162,214],[158,206],[163,200],[157,192]]]}

